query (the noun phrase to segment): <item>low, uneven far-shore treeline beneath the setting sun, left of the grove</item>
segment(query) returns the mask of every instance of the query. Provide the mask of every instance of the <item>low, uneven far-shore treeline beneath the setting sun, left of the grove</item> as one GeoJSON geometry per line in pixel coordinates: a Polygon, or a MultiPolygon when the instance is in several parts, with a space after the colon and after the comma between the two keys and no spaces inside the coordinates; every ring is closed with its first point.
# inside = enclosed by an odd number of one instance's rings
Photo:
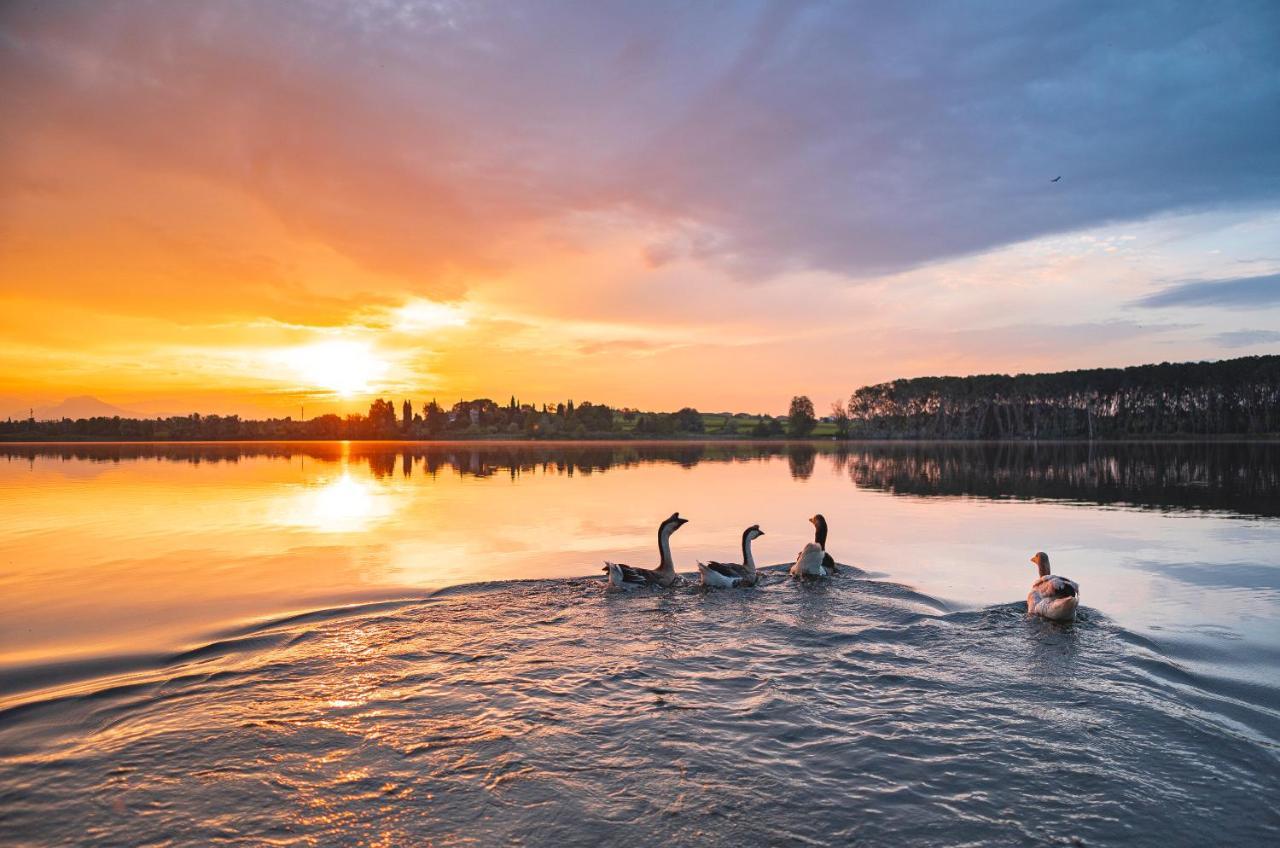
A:
{"type": "MultiPolygon", "coordinates": [[[[781,430],[781,424],[777,425],[781,430]]],[[[704,432],[695,409],[678,412],[616,410],[603,404],[567,401],[556,405],[520,404],[515,396],[500,405],[486,397],[458,401],[445,409],[435,400],[415,409],[375,400],[366,415],[317,415],[305,420],[243,419],[238,415],[177,415],[169,418],[82,418],[38,421],[33,418],[0,421],[8,441],[260,441],[260,439],[436,439],[436,438],[617,438],[677,437],[704,432]]]]}

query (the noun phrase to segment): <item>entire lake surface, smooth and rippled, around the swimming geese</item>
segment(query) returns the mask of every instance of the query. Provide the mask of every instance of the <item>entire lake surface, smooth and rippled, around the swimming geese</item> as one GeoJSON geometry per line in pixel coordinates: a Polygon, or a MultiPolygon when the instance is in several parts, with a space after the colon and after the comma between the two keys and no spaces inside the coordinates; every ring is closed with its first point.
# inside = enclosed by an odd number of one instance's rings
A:
{"type": "Polygon", "coordinates": [[[0,843],[1276,844],[1280,444],[0,446],[0,843]],[[852,567],[611,594],[812,539],[852,567]],[[1028,620],[1028,561],[1080,583],[1028,620]]]}

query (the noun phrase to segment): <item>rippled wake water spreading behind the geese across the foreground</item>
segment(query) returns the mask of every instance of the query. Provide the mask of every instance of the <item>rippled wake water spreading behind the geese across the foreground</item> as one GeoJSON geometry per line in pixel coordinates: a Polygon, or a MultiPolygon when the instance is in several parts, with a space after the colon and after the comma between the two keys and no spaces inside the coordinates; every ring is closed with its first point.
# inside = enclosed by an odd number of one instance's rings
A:
{"type": "Polygon", "coordinates": [[[733,592],[458,587],[111,674],[0,712],[6,839],[1263,844],[1280,828],[1274,688],[1192,675],[1089,610],[948,612],[854,569],[805,584],[773,566],[733,592]]]}

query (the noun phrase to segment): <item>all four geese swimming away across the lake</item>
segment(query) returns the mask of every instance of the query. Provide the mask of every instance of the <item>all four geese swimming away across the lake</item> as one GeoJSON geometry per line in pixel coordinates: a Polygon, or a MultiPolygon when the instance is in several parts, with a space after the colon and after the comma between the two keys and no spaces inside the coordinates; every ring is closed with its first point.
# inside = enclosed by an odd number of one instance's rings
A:
{"type": "MultiPolygon", "coordinates": [[[[791,566],[791,576],[799,580],[829,578],[838,573],[836,560],[827,553],[827,519],[815,515],[809,521],[814,528],[813,542],[804,546],[791,566]]],[[[612,589],[669,588],[682,583],[676,574],[675,560],[671,559],[671,534],[689,523],[672,512],[671,518],[658,525],[658,567],[637,569],[621,562],[605,562],[604,571],[609,575],[612,589]]],[[[764,535],[759,524],[742,530],[741,562],[699,562],[698,573],[701,584],[716,589],[736,589],[755,585],[759,575],[755,570],[755,557],[751,556],[751,542],[764,535]]],[[[1027,612],[1055,621],[1075,617],[1080,605],[1080,587],[1074,580],[1050,574],[1048,555],[1043,551],[1032,557],[1038,573],[1032,591],[1027,596],[1027,612]]]]}

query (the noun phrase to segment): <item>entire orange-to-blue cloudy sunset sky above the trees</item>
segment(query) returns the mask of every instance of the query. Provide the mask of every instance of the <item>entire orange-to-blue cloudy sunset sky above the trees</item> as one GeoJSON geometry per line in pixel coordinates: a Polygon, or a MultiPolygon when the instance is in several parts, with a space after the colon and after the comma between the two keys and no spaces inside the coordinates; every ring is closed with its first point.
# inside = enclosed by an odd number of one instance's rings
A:
{"type": "Polygon", "coordinates": [[[6,1],[0,115],[0,415],[1280,352],[1272,1],[6,1]]]}

